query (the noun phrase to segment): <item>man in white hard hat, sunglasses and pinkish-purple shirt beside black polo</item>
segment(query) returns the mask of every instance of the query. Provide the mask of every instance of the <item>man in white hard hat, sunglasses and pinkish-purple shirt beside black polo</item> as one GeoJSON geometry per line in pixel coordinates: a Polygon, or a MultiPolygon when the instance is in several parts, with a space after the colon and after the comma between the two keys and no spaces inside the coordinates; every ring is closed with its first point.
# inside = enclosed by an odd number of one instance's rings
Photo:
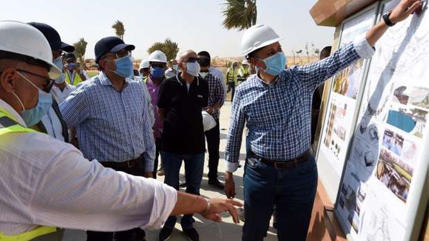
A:
{"type": "MultiPolygon", "coordinates": [[[[158,115],[158,106],[156,103],[158,102],[158,94],[161,83],[164,81],[165,76],[165,66],[167,64],[167,57],[165,53],[161,50],[155,50],[149,56],[149,66],[150,66],[150,74],[148,76],[148,80],[146,81],[146,86],[148,87],[149,94],[151,95],[153,112],[155,113],[155,124],[153,126],[153,136],[155,138],[155,162],[154,162],[154,170],[153,177],[156,178],[156,174],[158,171],[158,158],[161,152],[161,137],[162,137],[162,120],[158,115]]],[[[162,167],[162,165],[161,165],[162,167]]]]}

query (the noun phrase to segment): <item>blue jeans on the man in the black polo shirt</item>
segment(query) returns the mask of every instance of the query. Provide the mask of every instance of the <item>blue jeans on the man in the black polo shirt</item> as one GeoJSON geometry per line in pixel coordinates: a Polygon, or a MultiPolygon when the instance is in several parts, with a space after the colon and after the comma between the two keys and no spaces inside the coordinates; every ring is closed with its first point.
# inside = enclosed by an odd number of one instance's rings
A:
{"type": "MultiPolygon", "coordinates": [[[[185,163],[186,193],[200,195],[200,185],[204,168],[204,153],[180,155],[163,151],[161,152],[161,157],[165,173],[165,184],[179,190],[179,171],[183,160],[185,163]]],[[[180,224],[183,230],[193,228],[195,223],[193,216],[193,214],[188,214],[182,217],[180,224]]],[[[170,216],[165,222],[164,228],[173,229],[176,221],[176,216],[170,216]]]]}

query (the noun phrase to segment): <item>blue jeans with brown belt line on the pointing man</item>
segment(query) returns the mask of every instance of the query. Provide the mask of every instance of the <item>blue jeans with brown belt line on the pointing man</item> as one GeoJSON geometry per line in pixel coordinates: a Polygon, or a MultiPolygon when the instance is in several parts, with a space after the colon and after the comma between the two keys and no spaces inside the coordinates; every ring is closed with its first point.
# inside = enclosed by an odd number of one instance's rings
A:
{"type": "Polygon", "coordinates": [[[262,241],[273,206],[277,212],[279,240],[306,239],[317,189],[317,167],[313,155],[290,169],[275,169],[247,154],[244,169],[243,241],[262,241]]]}

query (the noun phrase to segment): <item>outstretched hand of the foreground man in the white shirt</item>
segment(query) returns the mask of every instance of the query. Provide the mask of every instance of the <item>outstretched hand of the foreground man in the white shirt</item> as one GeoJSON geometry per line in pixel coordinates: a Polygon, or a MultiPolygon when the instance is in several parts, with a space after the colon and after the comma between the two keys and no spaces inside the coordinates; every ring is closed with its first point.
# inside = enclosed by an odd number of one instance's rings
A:
{"type": "Polygon", "coordinates": [[[222,218],[219,216],[219,213],[229,212],[234,223],[240,223],[239,214],[237,208],[243,206],[242,203],[234,201],[232,199],[222,199],[222,198],[211,198],[210,207],[201,213],[201,215],[209,220],[214,222],[221,222],[222,218]]]}

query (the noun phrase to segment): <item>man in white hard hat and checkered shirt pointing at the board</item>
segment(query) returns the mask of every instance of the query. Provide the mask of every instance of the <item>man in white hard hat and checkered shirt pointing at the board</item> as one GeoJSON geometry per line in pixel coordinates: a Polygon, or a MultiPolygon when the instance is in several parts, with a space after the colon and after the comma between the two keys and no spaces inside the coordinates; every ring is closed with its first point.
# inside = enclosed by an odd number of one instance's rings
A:
{"type": "Polygon", "coordinates": [[[244,125],[250,150],[243,177],[245,224],[242,240],[263,240],[276,205],[279,240],[305,240],[317,188],[311,149],[311,104],[316,87],[361,58],[371,58],[388,26],[420,12],[419,0],[402,0],[366,36],[330,57],[284,69],[286,58],[273,29],[259,24],[242,38],[242,52],[257,73],[240,85],[232,103],[226,146],[225,192],[235,196],[232,173],[239,165],[244,125]]]}

